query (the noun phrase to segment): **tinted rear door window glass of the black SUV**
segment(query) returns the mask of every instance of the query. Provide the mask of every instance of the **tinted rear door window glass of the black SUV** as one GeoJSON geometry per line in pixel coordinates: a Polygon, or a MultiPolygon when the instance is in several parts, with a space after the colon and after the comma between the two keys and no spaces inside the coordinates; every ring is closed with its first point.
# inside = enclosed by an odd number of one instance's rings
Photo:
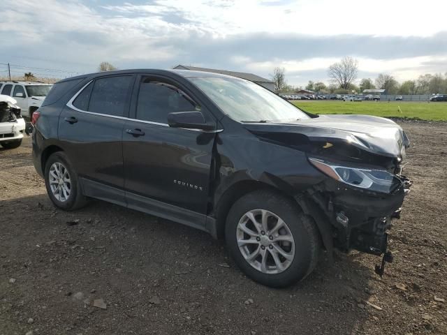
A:
{"type": "Polygon", "coordinates": [[[122,117],[132,78],[131,75],[122,75],[96,79],[88,111],[122,117]]]}

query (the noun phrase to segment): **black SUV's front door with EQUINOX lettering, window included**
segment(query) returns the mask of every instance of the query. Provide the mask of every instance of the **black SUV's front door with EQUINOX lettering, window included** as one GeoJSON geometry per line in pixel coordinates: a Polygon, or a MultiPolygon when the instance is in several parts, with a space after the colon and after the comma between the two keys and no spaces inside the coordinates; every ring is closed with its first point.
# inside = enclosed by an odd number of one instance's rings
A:
{"type": "MultiPolygon", "coordinates": [[[[133,119],[123,133],[128,202],[138,195],[206,214],[215,133],[171,128],[168,113],[200,110],[179,84],[160,77],[138,78],[133,119]]],[[[201,110],[205,119],[212,115],[201,110]]]]}

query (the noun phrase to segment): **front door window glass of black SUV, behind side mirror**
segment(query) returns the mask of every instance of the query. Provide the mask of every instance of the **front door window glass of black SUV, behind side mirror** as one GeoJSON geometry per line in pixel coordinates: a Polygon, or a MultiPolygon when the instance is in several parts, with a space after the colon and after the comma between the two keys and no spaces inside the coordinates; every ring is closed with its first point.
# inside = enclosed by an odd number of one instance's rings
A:
{"type": "Polygon", "coordinates": [[[197,104],[182,90],[165,82],[143,78],[138,92],[136,118],[168,123],[168,114],[196,110],[197,104]]]}

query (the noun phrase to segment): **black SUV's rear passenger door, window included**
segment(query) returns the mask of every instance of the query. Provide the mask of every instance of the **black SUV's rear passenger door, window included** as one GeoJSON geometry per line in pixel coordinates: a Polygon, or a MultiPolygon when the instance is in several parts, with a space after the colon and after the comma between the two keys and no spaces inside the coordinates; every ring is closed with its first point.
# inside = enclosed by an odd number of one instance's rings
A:
{"type": "Polygon", "coordinates": [[[87,195],[123,204],[122,132],[134,75],[91,80],[68,101],[59,117],[59,140],[87,195]]]}

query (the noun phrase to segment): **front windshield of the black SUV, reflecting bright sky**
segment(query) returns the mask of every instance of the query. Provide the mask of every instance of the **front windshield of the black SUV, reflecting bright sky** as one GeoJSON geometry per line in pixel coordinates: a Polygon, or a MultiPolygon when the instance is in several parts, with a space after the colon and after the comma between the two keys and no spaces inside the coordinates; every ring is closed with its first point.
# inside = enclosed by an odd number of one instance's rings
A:
{"type": "Polygon", "coordinates": [[[309,119],[298,107],[248,80],[222,77],[190,77],[189,80],[235,121],[309,119]]]}

